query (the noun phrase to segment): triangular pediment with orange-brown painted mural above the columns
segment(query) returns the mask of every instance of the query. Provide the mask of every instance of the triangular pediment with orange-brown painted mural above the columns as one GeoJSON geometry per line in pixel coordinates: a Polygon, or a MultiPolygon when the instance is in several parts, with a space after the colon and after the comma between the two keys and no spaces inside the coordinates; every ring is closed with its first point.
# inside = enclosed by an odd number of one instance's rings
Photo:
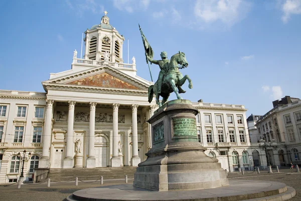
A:
{"type": "Polygon", "coordinates": [[[43,85],[127,90],[147,90],[149,86],[147,83],[107,65],[75,73],[71,72],[69,75],[47,80],[43,82],[43,85]]]}

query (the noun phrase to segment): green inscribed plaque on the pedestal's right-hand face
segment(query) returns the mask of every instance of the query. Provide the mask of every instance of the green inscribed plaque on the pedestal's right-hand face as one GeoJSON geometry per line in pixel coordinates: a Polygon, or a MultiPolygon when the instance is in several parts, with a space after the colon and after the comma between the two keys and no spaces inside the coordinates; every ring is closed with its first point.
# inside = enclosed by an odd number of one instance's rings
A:
{"type": "Polygon", "coordinates": [[[194,136],[197,137],[196,120],[193,118],[175,118],[173,119],[174,137],[194,136]]]}

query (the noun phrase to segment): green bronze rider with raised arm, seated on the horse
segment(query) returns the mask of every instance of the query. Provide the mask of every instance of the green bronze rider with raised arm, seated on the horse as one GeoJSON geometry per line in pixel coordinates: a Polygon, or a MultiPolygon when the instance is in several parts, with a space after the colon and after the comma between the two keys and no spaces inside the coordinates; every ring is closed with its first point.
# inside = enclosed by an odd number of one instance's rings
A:
{"type": "MultiPolygon", "coordinates": [[[[149,62],[159,65],[159,67],[161,69],[160,73],[159,73],[158,81],[157,81],[159,94],[161,93],[163,77],[166,75],[166,73],[168,71],[168,63],[169,63],[169,59],[167,58],[167,52],[165,52],[165,51],[161,52],[160,56],[161,56],[162,60],[153,60],[147,56],[147,59],[149,62]]],[[[180,86],[178,86],[178,89],[179,89],[179,93],[186,92],[180,86]]]]}

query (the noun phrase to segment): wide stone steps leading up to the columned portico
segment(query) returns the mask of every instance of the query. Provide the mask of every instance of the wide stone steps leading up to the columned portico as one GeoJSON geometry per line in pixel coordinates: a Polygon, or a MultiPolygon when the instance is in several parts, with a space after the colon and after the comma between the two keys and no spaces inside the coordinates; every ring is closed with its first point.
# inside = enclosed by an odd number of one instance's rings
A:
{"type": "Polygon", "coordinates": [[[97,180],[100,176],[103,179],[124,179],[127,175],[128,178],[134,178],[136,167],[96,167],[96,168],[71,168],[71,169],[56,169],[51,168],[48,173],[48,178],[51,181],[73,181],[75,177],[79,180],[97,180]]]}

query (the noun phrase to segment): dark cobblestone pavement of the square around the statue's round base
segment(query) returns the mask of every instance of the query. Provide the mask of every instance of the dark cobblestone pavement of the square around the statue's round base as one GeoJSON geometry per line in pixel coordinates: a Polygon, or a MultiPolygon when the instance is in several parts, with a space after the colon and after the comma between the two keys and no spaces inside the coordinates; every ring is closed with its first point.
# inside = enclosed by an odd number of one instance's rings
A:
{"type": "MultiPolygon", "coordinates": [[[[301,201],[301,172],[297,173],[291,170],[280,170],[280,173],[268,174],[267,171],[261,171],[260,174],[256,172],[248,171],[244,175],[241,173],[228,173],[229,179],[244,179],[244,180],[269,180],[269,181],[279,181],[286,183],[287,185],[293,187],[296,190],[296,195],[289,199],[289,201],[301,201]]],[[[116,185],[122,184],[124,180],[104,180],[105,185],[116,185]]],[[[129,178],[128,183],[132,183],[132,179],[129,178]]],[[[74,185],[74,182],[51,182],[51,187],[47,187],[47,183],[42,184],[24,184],[21,189],[17,189],[17,185],[11,186],[0,186],[0,200],[32,200],[32,201],[50,201],[50,200],[65,200],[65,198],[76,190],[98,187],[100,186],[100,181],[86,183],[78,182],[78,186],[74,185]]]]}

